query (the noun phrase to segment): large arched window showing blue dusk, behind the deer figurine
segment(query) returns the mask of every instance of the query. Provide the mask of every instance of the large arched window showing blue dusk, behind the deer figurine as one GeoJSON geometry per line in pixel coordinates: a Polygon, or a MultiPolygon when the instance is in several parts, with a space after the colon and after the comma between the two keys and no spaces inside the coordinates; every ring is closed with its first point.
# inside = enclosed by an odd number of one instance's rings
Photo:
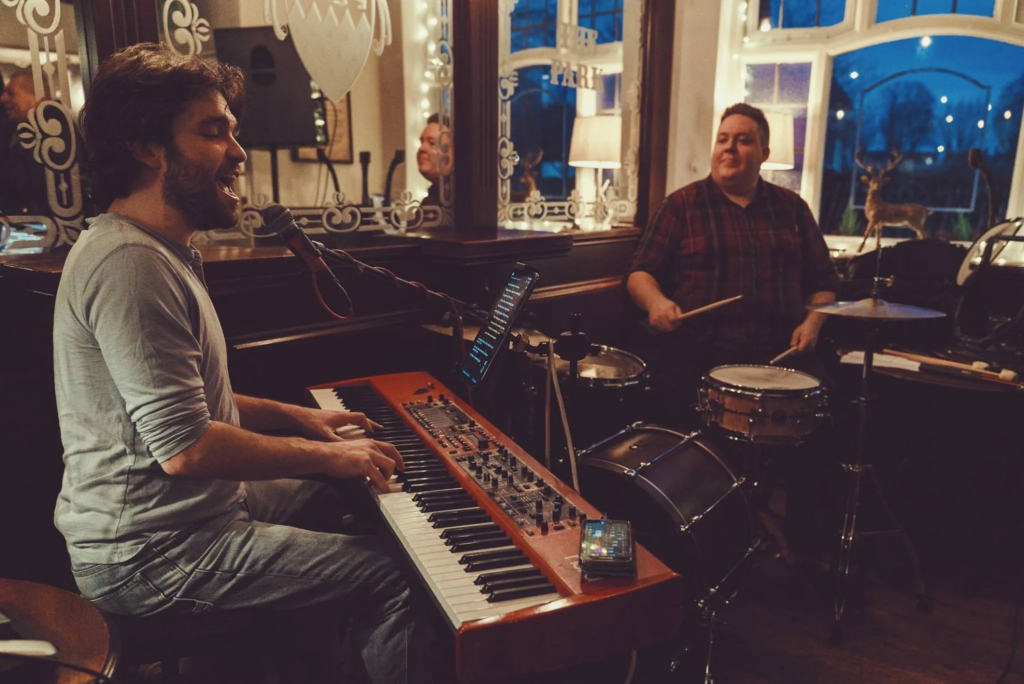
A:
{"type": "Polygon", "coordinates": [[[970,149],[981,149],[992,171],[996,216],[1007,215],[1024,112],[1024,47],[963,36],[924,42],[894,41],[836,57],[819,211],[825,232],[863,232],[858,149],[876,168],[897,149],[901,161],[886,174],[882,197],[927,206],[929,232],[950,240],[971,240],[986,225],[988,193],[968,164],[970,149]]]}

